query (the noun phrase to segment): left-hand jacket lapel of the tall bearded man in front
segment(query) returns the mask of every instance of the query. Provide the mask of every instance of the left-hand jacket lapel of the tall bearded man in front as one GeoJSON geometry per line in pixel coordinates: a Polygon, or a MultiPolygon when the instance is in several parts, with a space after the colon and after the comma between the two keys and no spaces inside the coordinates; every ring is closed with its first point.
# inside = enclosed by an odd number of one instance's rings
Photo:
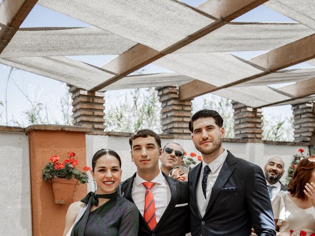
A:
{"type": "Polygon", "coordinates": [[[189,175],[189,191],[192,192],[190,196],[192,196],[192,199],[189,201],[192,201],[192,203],[195,204],[189,204],[192,213],[202,219],[201,214],[199,212],[198,206],[197,206],[197,197],[196,197],[196,188],[197,188],[197,183],[198,183],[198,178],[200,177],[200,172],[202,169],[202,162],[200,162],[196,167],[190,170],[190,175],[189,175]],[[192,189],[192,190],[191,190],[192,189]]]}

